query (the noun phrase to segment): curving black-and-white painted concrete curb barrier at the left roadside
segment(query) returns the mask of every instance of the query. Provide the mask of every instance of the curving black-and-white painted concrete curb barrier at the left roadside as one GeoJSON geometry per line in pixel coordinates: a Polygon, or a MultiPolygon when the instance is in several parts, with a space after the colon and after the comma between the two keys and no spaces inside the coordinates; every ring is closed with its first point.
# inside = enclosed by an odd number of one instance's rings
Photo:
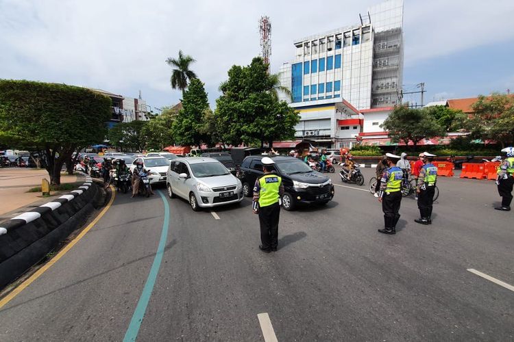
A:
{"type": "Polygon", "coordinates": [[[100,207],[103,192],[84,185],[0,224],[0,288],[42,260],[100,207]]]}

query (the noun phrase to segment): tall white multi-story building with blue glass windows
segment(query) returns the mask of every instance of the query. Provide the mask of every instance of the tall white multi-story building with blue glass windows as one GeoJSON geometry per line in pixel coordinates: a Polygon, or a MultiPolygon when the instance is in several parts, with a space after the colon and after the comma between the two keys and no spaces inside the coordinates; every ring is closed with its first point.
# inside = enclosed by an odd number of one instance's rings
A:
{"type": "Polygon", "coordinates": [[[382,131],[401,101],[402,22],[403,0],[389,0],[369,8],[356,25],[294,42],[295,59],[280,68],[280,82],[292,94],[282,99],[301,116],[297,137],[339,148],[382,131]]]}

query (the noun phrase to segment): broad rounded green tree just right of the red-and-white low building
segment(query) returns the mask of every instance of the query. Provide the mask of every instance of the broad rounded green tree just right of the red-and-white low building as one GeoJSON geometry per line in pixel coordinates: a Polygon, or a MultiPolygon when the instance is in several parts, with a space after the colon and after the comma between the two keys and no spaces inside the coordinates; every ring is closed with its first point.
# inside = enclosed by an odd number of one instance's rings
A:
{"type": "Polygon", "coordinates": [[[445,135],[444,129],[426,109],[395,107],[389,117],[380,125],[389,133],[392,142],[404,142],[414,146],[423,139],[445,135]]]}

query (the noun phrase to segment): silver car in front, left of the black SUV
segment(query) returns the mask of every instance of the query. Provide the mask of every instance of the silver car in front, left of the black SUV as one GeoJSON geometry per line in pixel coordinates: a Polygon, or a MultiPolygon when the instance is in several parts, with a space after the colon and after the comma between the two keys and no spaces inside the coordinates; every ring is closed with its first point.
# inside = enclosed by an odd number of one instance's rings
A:
{"type": "Polygon", "coordinates": [[[243,200],[241,181],[212,158],[173,159],[166,183],[169,197],[179,196],[188,200],[194,211],[243,200]]]}

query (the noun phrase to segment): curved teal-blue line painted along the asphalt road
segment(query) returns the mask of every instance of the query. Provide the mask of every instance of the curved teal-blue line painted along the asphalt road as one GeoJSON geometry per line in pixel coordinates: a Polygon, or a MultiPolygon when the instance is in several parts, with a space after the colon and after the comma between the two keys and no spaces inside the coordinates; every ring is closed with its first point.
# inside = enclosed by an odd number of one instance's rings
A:
{"type": "Polygon", "coordinates": [[[156,257],[154,257],[154,263],[151,265],[147,282],[145,282],[145,287],[143,287],[143,292],[140,295],[138,305],[136,306],[134,315],[132,315],[127,332],[125,332],[123,342],[136,341],[136,338],[138,337],[139,328],[143,322],[143,318],[145,317],[151,292],[154,291],[154,285],[156,284],[157,275],[159,274],[160,263],[162,261],[162,256],[164,255],[164,247],[166,246],[166,239],[168,237],[169,206],[168,201],[162,192],[159,190],[157,192],[162,198],[162,202],[164,202],[164,222],[162,223],[162,233],[160,233],[160,241],[156,257]]]}

